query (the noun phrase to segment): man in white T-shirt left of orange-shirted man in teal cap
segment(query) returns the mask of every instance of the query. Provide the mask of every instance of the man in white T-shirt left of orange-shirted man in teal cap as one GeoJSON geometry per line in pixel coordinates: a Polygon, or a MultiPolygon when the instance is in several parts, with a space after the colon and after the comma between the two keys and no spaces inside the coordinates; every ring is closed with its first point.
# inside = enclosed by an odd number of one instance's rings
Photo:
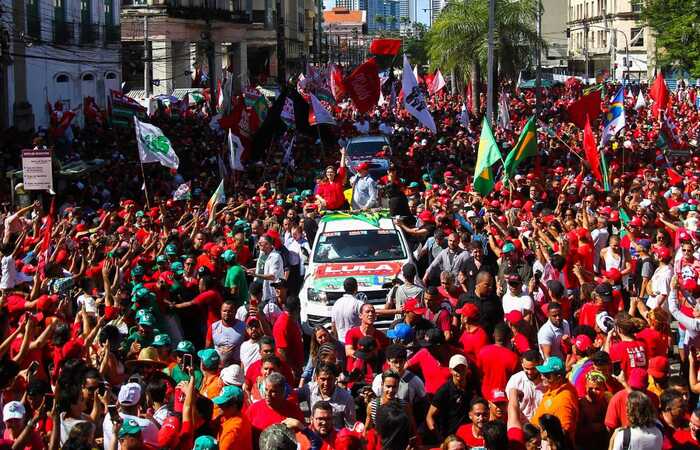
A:
{"type": "Polygon", "coordinates": [[[529,422],[537,406],[542,401],[545,387],[537,366],[542,364],[542,357],[537,350],[528,350],[521,357],[523,370],[513,374],[506,385],[506,394],[510,399],[518,396],[521,421],[529,422]]]}

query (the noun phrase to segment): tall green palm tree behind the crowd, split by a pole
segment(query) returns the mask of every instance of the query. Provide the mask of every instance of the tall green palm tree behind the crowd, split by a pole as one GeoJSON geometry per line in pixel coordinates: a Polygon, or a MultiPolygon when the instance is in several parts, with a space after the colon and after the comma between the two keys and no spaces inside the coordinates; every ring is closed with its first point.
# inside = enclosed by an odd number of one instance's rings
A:
{"type": "MultiPolygon", "coordinates": [[[[535,30],[538,1],[496,0],[496,79],[515,79],[530,63],[532,48],[544,45],[535,30]]],[[[449,2],[428,32],[431,64],[471,79],[475,111],[488,51],[488,17],[488,0],[449,2]]]]}

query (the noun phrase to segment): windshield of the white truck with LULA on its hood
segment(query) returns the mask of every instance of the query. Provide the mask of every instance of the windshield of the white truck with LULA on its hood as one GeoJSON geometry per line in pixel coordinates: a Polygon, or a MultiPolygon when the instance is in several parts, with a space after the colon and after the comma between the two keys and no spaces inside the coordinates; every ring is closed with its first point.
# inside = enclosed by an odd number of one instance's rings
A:
{"type": "Polygon", "coordinates": [[[362,230],[323,233],[314,251],[315,263],[390,261],[405,259],[396,230],[362,230]]]}

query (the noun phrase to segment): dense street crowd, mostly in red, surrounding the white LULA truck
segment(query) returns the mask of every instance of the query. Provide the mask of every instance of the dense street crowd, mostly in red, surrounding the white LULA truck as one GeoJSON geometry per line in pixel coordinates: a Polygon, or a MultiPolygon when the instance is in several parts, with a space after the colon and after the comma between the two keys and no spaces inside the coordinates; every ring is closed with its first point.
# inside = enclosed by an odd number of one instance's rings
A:
{"type": "MultiPolygon", "coordinates": [[[[472,188],[485,99],[465,114],[446,92],[428,101],[435,134],[400,105],[334,105],[337,145],[273,143],[214,209],[228,149],[206,106],[150,119],[180,166],[145,180],[133,130],[34,136],[62,162],[106,164],[5,203],[0,448],[700,448],[698,90],[671,93],[669,151],[635,109],[646,88],[629,87],[608,190],[567,119],[571,86],[544,90],[538,155],[486,196],[472,188]],[[347,139],[380,133],[387,175],[350,176],[347,139]],[[318,221],[380,207],[413,252],[386,304],[347,277],[330,323],[302,324],[318,221]]],[[[509,94],[504,157],[534,98],[509,94]]]]}

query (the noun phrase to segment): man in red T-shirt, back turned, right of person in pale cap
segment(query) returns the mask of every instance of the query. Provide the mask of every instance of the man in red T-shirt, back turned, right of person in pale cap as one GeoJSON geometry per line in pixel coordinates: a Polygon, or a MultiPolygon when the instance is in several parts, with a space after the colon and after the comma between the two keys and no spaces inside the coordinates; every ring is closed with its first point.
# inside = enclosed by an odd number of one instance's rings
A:
{"type": "Polygon", "coordinates": [[[494,344],[482,348],[476,357],[484,397],[488,397],[494,389],[504,391],[508,379],[518,370],[518,355],[508,348],[510,338],[508,325],[499,323],[493,331],[494,344]]]}

